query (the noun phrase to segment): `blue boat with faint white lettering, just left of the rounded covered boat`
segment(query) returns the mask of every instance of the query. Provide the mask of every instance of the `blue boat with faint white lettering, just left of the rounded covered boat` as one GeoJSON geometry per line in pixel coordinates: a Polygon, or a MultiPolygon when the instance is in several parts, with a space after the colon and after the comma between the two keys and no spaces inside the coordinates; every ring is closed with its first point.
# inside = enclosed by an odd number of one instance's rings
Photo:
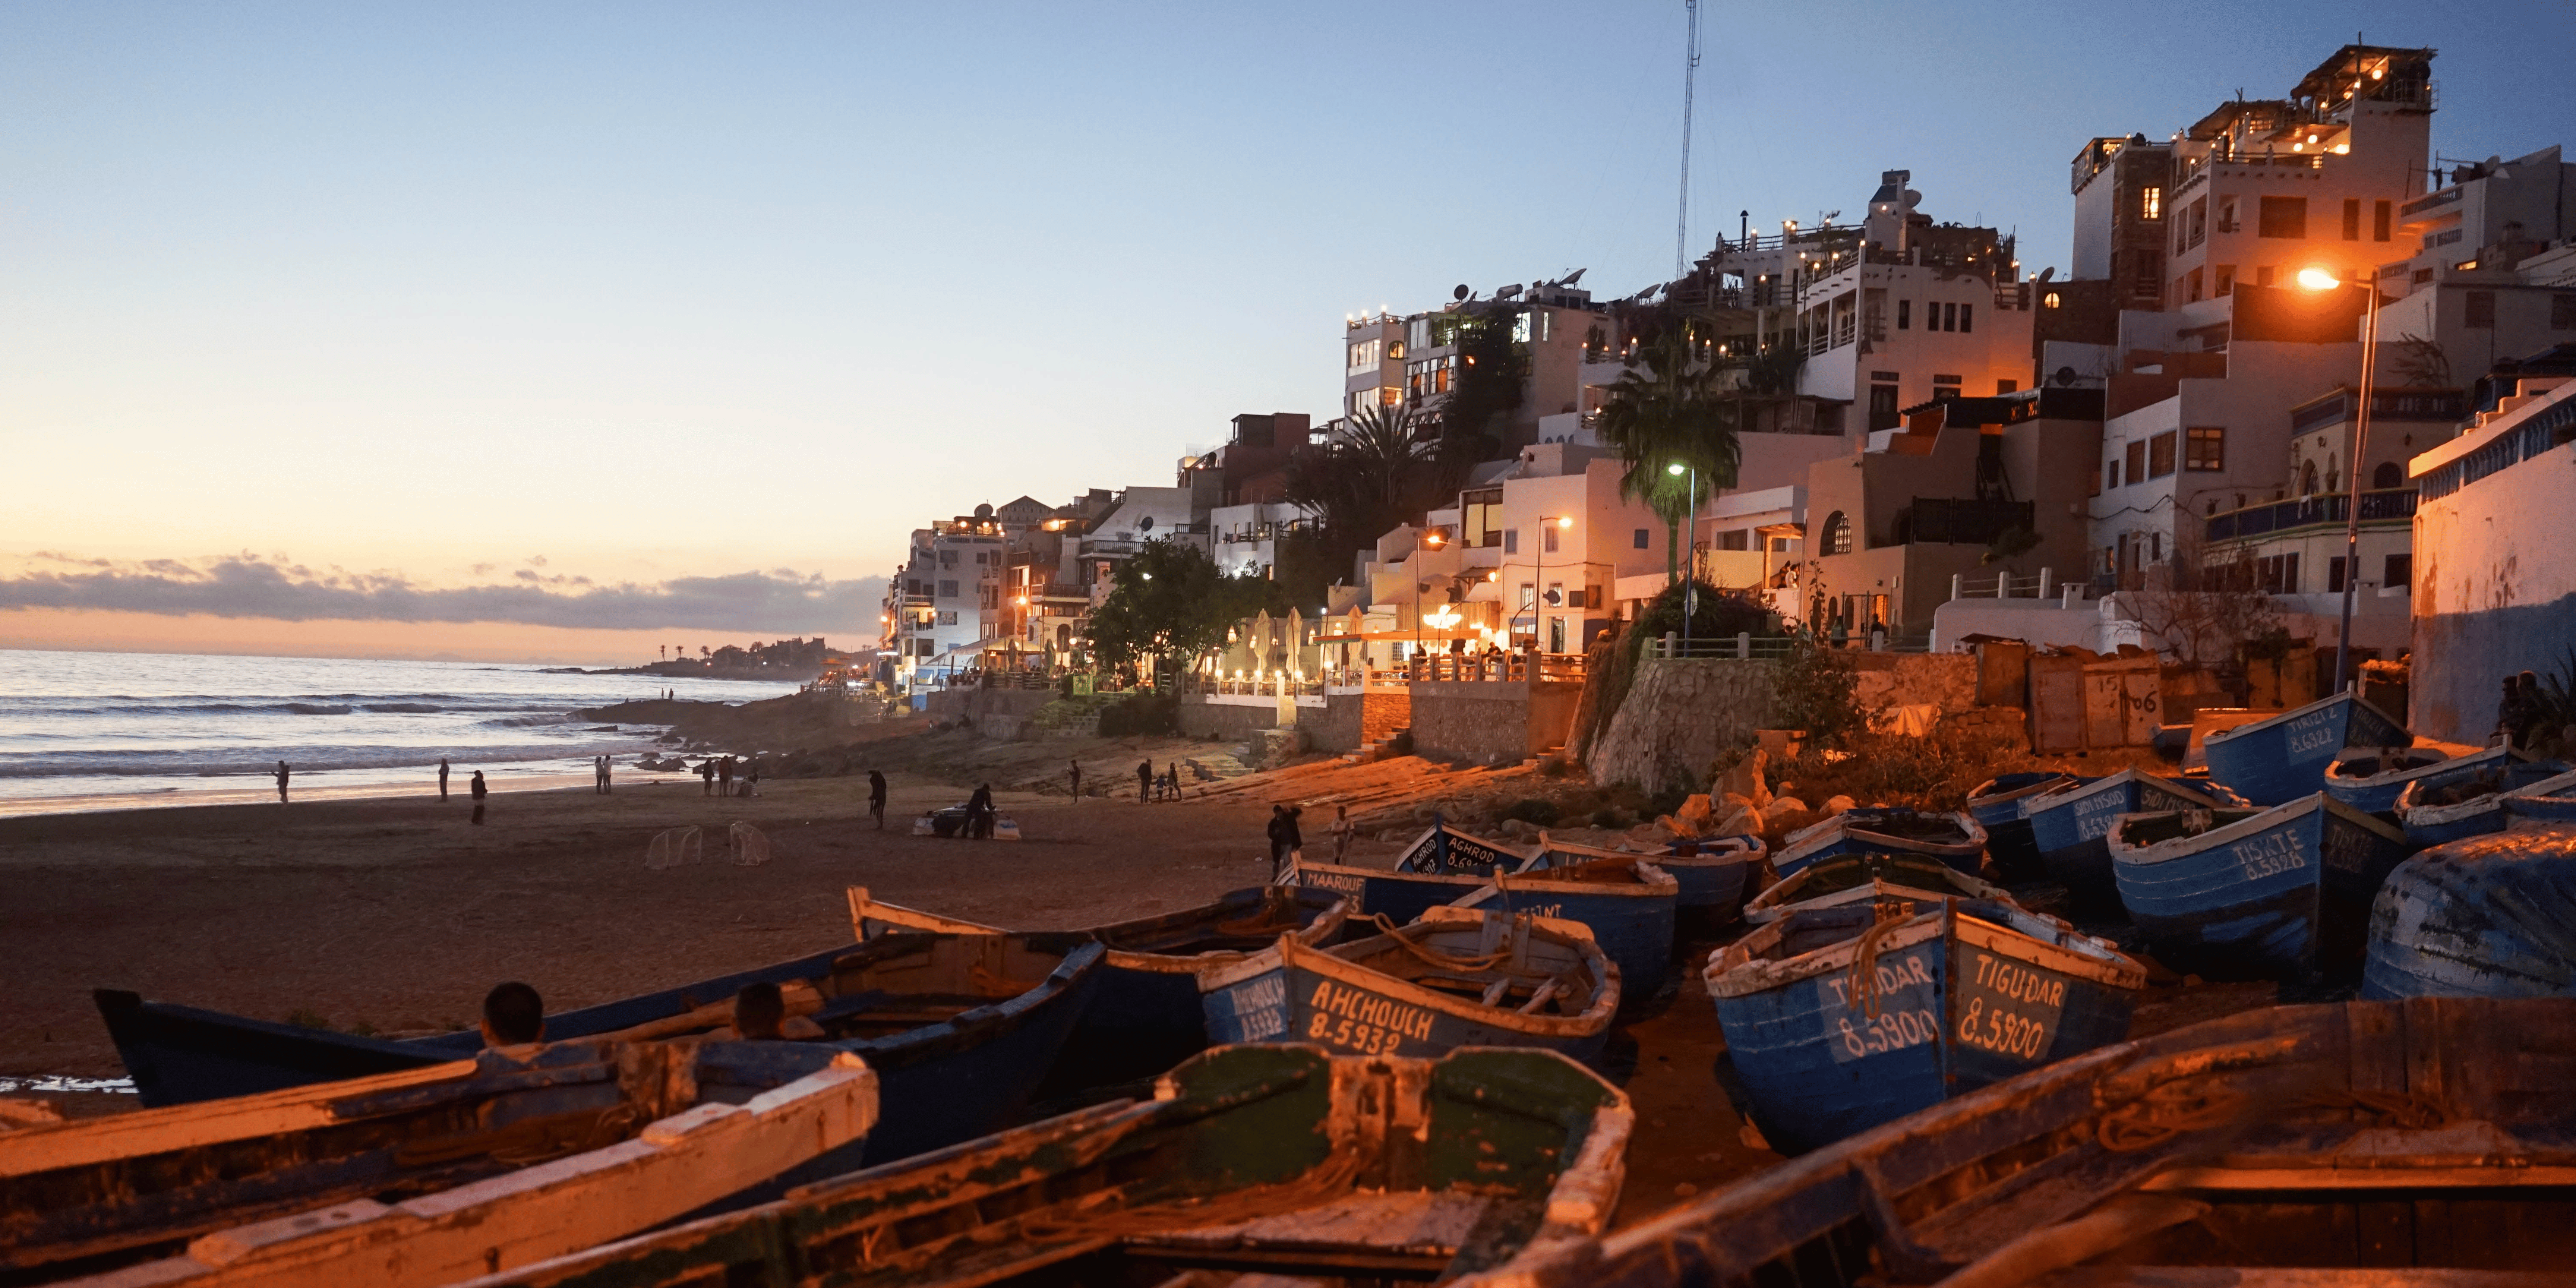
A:
{"type": "Polygon", "coordinates": [[[2177,971],[2298,979],[2360,961],[2406,835],[2324,791],[2272,809],[2128,814],[2112,827],[2120,904],[2177,971]]]}

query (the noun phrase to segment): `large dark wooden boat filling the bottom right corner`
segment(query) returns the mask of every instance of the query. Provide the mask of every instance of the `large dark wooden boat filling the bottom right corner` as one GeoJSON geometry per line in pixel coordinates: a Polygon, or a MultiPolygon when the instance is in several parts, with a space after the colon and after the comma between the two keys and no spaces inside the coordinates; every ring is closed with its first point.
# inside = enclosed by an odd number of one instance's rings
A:
{"type": "Polygon", "coordinates": [[[2543,1288],[2576,1002],[2269,1007],[2105,1046],[1453,1288],[2543,1288]]]}

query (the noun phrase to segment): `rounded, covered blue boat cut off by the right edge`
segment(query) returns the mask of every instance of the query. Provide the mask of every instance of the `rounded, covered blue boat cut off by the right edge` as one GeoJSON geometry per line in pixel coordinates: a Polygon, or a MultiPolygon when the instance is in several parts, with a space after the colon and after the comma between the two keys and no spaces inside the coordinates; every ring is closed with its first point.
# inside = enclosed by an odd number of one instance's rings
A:
{"type": "Polygon", "coordinates": [[[2370,904],[2362,997],[2576,997],[2576,832],[2512,829],[2398,863],[2370,904]]]}

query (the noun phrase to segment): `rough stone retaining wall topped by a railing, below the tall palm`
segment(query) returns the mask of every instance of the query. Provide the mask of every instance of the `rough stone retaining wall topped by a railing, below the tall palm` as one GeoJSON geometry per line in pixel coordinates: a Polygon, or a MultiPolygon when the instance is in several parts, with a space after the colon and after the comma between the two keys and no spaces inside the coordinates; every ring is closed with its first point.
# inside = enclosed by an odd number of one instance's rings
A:
{"type": "Polygon", "coordinates": [[[1770,703],[1770,662],[1643,659],[1584,768],[1595,783],[1705,791],[1718,747],[1752,742],[1770,703]]]}

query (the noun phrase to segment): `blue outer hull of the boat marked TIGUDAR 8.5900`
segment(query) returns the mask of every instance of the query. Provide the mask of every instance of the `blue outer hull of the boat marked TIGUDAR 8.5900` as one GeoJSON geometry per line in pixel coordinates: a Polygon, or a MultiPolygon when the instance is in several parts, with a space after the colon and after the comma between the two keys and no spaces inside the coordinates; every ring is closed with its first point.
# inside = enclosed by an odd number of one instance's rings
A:
{"type": "Polygon", "coordinates": [[[2128,1036],[2136,987],[2056,969],[2058,953],[2009,930],[1924,922],[1865,963],[1875,1007],[1852,989],[1857,940],[1816,953],[1826,969],[1803,979],[1734,997],[1710,984],[1775,1149],[1803,1154],[2128,1036]]]}

